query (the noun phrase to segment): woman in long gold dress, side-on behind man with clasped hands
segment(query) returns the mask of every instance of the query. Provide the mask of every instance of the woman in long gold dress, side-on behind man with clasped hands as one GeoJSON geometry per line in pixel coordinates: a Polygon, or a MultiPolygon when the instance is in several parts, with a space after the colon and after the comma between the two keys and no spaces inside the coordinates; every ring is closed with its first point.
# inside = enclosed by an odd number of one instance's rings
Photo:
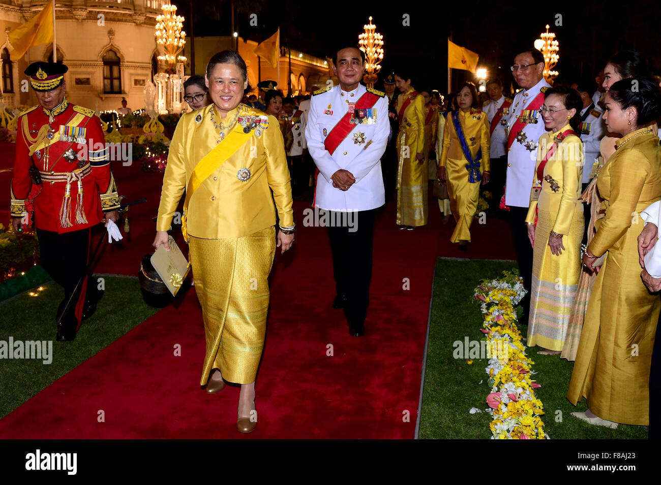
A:
{"type": "Polygon", "coordinates": [[[397,224],[412,230],[427,224],[427,166],[424,164],[424,98],[411,86],[408,74],[395,73],[397,98],[397,224]]]}

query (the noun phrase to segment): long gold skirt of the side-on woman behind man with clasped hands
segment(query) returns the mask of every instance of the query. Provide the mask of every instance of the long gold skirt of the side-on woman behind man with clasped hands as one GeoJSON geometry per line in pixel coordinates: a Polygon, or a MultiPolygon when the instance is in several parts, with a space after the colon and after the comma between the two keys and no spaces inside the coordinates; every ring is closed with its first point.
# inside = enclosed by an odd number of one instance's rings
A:
{"type": "Polygon", "coordinates": [[[397,224],[424,226],[428,220],[428,169],[416,160],[416,132],[400,130],[397,134],[397,224]],[[408,156],[405,156],[408,155],[408,156]]]}

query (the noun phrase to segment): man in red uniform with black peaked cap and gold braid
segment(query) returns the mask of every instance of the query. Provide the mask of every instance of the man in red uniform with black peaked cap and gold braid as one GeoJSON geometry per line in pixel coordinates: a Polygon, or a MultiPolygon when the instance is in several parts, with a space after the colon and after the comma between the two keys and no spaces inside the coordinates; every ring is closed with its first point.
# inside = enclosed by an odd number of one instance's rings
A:
{"type": "Polygon", "coordinates": [[[44,269],[64,288],[56,315],[59,341],[75,338],[100,297],[95,284],[88,290],[90,228],[119,217],[100,119],[67,101],[67,70],[46,62],[25,70],[39,104],[19,117],[11,182],[14,231],[28,228],[34,217],[44,269]]]}

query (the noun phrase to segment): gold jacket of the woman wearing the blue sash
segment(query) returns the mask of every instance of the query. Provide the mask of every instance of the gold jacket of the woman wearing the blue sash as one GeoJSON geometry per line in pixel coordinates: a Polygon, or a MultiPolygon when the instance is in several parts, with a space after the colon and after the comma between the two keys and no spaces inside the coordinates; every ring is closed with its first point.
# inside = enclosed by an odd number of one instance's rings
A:
{"type": "MultiPolygon", "coordinates": [[[[489,119],[485,112],[481,110],[469,110],[463,112],[459,110],[459,123],[463,128],[463,136],[471,149],[471,155],[475,157],[477,151],[482,148],[481,172],[489,172],[491,164],[489,160],[489,146],[491,137],[489,136],[489,119]]],[[[457,136],[457,130],[452,120],[452,112],[447,112],[446,123],[443,132],[443,153],[441,154],[439,165],[446,166],[447,159],[466,160],[461,150],[461,143],[457,136]]],[[[466,176],[468,171],[463,169],[466,176]]]]}

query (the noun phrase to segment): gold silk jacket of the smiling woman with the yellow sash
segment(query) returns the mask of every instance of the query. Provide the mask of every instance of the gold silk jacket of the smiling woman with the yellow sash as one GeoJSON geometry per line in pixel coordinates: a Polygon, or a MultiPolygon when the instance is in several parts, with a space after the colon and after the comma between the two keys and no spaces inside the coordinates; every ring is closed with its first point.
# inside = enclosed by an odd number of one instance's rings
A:
{"type": "MultiPolygon", "coordinates": [[[[156,222],[159,231],[169,230],[193,169],[219,140],[219,130],[210,118],[212,109],[214,104],[184,113],[176,125],[163,177],[156,222]]],[[[239,104],[222,121],[230,123],[237,110],[239,115],[265,114],[239,104]]],[[[221,120],[217,111],[214,119],[217,123],[221,120]]],[[[249,236],[276,224],[274,201],[280,226],[293,226],[292,186],[280,123],[269,115],[262,134],[258,137],[253,131],[249,140],[193,193],[188,203],[188,234],[204,239],[249,236]],[[243,168],[251,174],[246,181],[238,177],[243,168]]]]}

